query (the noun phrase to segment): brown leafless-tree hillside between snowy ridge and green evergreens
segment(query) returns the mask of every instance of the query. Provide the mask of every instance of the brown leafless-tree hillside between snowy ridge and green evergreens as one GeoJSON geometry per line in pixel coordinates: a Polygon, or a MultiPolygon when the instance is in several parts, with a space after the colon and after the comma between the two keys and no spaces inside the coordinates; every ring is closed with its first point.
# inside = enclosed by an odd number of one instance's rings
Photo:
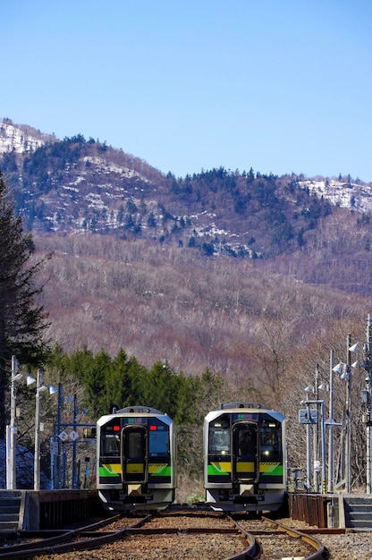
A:
{"type": "MultiPolygon", "coordinates": [[[[294,262],[284,274],[260,259],[206,259],[197,250],[100,235],[43,236],[37,246],[54,251],[43,304],[48,335],[64,350],[86,345],[115,355],[123,347],[147,367],[167,358],[173,369],[209,368],[235,385],[249,377],[275,386],[297,349],[334,321],[365,318],[370,303],[306,284],[294,262]]],[[[322,267],[316,253],[302,263],[308,259],[313,271],[322,267]]]]}

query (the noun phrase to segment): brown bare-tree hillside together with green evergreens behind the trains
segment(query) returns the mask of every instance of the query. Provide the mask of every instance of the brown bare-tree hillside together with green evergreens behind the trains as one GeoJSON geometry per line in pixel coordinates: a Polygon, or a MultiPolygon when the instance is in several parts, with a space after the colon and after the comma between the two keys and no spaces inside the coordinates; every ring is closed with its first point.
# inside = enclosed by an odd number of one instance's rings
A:
{"type": "MultiPolygon", "coordinates": [[[[203,416],[222,402],[257,402],[285,413],[289,469],[304,470],[306,429],[299,411],[305,388],[315,391],[318,372],[327,412],[330,352],[335,362],[346,361],[351,334],[360,343],[352,380],[353,481],[364,483],[368,299],[299,282],[258,260],[234,260],[232,268],[228,259],[206,261],[199,253],[186,259],[182,248],[162,250],[106,236],[91,240],[37,240],[37,258],[54,251],[40,274],[40,302],[51,318],[47,338],[55,344],[43,364],[45,378],[62,383],[66,395],[79,395],[85,421],[132,403],[172,415],[180,472],[200,492],[203,416]]],[[[345,414],[345,388],[334,375],[337,421],[345,414]]],[[[27,401],[22,392],[21,398],[27,401]]],[[[71,418],[68,401],[63,411],[71,418]]],[[[23,442],[32,445],[31,412],[27,419],[23,442]]],[[[46,399],[44,421],[47,437],[55,421],[52,397],[46,399]]],[[[334,434],[339,479],[342,434],[334,434]]],[[[45,450],[47,469],[48,445],[45,450]]]]}

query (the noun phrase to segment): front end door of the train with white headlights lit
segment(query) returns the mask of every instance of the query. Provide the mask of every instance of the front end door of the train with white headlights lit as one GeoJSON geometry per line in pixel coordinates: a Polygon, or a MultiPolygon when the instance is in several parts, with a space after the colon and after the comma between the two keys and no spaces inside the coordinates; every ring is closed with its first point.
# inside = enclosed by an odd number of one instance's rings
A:
{"type": "Polygon", "coordinates": [[[257,424],[237,422],[232,426],[232,479],[234,482],[257,482],[257,473],[257,424]]]}

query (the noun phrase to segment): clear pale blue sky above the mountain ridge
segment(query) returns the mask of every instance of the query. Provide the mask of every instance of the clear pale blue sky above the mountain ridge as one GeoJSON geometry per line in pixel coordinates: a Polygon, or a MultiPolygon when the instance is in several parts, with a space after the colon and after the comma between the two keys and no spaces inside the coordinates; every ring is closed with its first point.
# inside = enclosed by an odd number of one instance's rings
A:
{"type": "Polygon", "coordinates": [[[0,116],[177,177],[372,182],[370,0],[4,0],[0,116]]]}

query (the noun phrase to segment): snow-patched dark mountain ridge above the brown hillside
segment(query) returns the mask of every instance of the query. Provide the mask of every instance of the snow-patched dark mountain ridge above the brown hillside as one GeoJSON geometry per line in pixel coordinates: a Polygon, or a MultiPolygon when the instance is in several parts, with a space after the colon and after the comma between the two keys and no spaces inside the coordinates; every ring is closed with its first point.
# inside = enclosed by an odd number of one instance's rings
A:
{"type": "Polygon", "coordinates": [[[307,244],[334,208],[367,214],[371,185],[224,168],[176,179],[80,134],[57,140],[9,119],[0,169],[34,233],[104,233],[206,255],[268,259],[307,244]]]}

